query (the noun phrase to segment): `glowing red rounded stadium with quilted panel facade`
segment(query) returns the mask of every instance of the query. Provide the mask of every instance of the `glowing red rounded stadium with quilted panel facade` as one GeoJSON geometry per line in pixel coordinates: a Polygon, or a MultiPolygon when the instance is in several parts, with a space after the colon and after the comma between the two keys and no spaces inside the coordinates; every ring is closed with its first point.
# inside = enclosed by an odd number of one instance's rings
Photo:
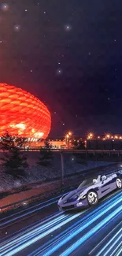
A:
{"type": "Polygon", "coordinates": [[[46,139],[50,132],[51,117],[38,98],[17,87],[0,83],[0,136],[46,139]]]}

